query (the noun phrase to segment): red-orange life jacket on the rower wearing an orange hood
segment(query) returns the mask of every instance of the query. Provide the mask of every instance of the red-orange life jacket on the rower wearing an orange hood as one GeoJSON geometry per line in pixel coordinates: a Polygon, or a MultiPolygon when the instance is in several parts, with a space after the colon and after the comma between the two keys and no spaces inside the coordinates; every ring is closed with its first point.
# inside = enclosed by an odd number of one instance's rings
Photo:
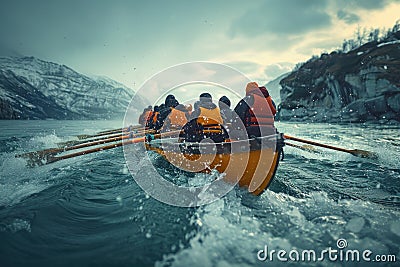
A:
{"type": "Polygon", "coordinates": [[[254,103],[250,107],[250,118],[247,118],[246,127],[249,126],[274,126],[274,114],[276,109],[270,96],[265,98],[259,94],[253,94],[254,103]]]}

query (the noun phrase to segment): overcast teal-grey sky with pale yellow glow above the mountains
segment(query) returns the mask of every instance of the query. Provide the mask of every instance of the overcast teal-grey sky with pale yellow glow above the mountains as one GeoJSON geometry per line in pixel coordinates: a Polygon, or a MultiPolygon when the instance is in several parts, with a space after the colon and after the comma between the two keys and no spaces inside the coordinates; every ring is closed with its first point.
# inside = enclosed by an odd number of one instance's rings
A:
{"type": "Polygon", "coordinates": [[[137,89],[188,61],[228,64],[265,84],[357,27],[392,27],[400,1],[0,0],[0,53],[105,75],[137,89]]]}

